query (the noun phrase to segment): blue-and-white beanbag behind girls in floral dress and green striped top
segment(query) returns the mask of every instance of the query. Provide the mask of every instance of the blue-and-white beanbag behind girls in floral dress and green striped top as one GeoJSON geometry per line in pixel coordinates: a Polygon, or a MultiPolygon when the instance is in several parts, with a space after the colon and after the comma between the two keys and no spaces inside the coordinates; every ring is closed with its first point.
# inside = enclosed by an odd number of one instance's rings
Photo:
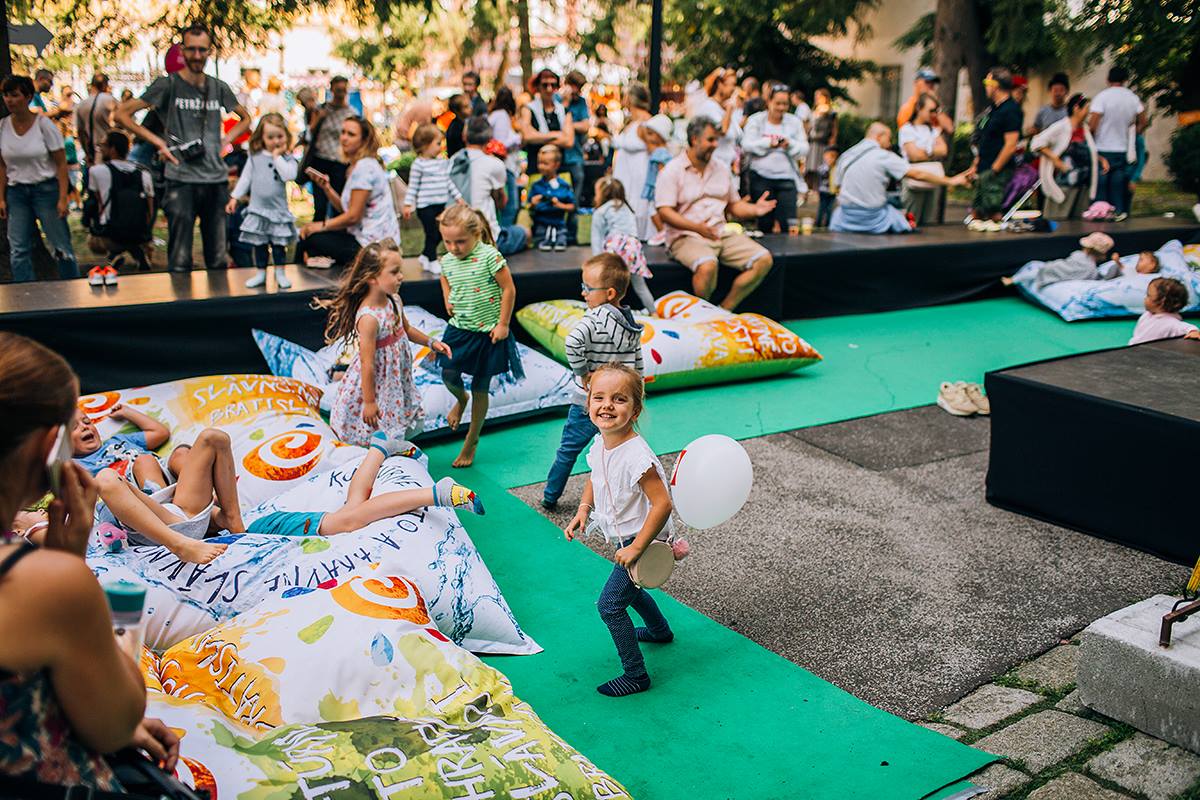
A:
{"type": "MultiPolygon", "coordinates": [[[[445,332],[445,320],[420,306],[404,306],[404,314],[412,325],[432,337],[440,337],[445,332]]],[[[320,407],[329,410],[329,403],[337,390],[336,381],[330,381],[330,372],[336,363],[347,362],[353,356],[353,349],[335,343],[313,351],[265,331],[254,330],[253,335],[268,368],[276,375],[296,378],[320,386],[323,390],[320,407]]],[[[446,415],[454,405],[454,398],[442,383],[442,373],[431,368],[428,348],[413,343],[409,343],[409,347],[413,350],[413,378],[416,381],[416,390],[421,393],[421,407],[425,409],[425,433],[449,429],[446,415]]],[[[514,380],[509,375],[497,375],[492,380],[488,420],[534,414],[571,402],[571,374],[566,369],[521,343],[517,343],[517,350],[521,354],[524,378],[514,380]]],[[[469,377],[466,381],[469,389],[469,377]]]]}

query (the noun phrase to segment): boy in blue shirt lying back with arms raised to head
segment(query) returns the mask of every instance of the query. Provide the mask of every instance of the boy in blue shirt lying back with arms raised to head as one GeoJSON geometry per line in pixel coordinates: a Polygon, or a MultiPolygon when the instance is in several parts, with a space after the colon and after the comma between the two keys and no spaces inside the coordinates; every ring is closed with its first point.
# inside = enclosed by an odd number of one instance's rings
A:
{"type": "Polygon", "coordinates": [[[140,431],[101,439],[91,419],[76,411],[76,423],[71,428],[71,449],[76,462],[91,473],[92,477],[102,469],[113,469],[146,492],[157,492],[170,483],[162,462],[150,452],[167,444],[170,428],[124,403],[114,405],[108,415],[114,420],[132,422],[140,431]]]}

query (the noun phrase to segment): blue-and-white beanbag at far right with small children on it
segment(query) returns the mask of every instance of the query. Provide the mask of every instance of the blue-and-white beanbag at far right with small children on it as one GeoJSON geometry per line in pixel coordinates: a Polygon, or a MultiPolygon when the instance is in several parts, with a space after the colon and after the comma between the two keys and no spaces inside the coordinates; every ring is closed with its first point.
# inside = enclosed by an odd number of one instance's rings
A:
{"type": "MultiPolygon", "coordinates": [[[[1194,248],[1193,245],[1188,246],[1194,248]]],[[[1188,263],[1186,248],[1178,240],[1171,240],[1154,252],[1159,271],[1139,275],[1138,253],[1121,257],[1122,275],[1111,281],[1061,281],[1037,288],[1038,269],[1044,261],[1030,261],[1013,276],[1013,282],[1026,297],[1042,303],[1068,323],[1076,319],[1102,317],[1138,317],[1146,307],[1146,288],[1154,278],[1175,278],[1188,289],[1184,313],[1200,311],[1200,272],[1188,263]]],[[[1066,253],[1063,253],[1066,255],[1066,253]]],[[[1200,248],[1194,251],[1193,263],[1200,264],[1200,248]]]]}

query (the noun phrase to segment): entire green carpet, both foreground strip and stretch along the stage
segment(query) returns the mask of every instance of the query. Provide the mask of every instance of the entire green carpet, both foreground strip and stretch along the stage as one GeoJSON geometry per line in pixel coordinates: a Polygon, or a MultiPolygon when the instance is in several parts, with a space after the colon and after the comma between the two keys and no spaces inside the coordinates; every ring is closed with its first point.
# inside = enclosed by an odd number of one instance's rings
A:
{"type": "MultiPolygon", "coordinates": [[[[989,369],[1122,344],[1133,324],[1068,325],[1004,299],[788,326],[826,361],[782,378],[653,395],[641,426],[650,445],[671,452],[706,433],[745,439],[924,405],[942,380],[980,380],[989,369]]],[[[594,687],[618,670],[594,604],[611,565],[565,542],[505,491],[545,480],[560,416],[485,428],[476,467],[455,473],[485,498],[488,515],[463,515],[467,528],[517,619],[546,649],[490,661],[635,798],[916,800],[947,795],[991,760],[871,708],[661,593],[677,639],[647,646],[654,688],[619,700],[598,694],[594,687]]],[[[458,446],[427,449],[434,475],[450,473],[458,446]]]]}

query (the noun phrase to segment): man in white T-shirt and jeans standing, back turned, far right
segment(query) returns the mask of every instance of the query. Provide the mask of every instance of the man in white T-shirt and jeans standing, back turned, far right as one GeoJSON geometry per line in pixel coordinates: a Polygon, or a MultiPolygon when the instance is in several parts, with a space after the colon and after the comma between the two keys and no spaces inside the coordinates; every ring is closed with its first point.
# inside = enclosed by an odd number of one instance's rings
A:
{"type": "Polygon", "coordinates": [[[1134,137],[1145,131],[1147,124],[1146,107],[1124,85],[1128,79],[1129,71],[1124,67],[1109,70],[1109,86],[1092,100],[1092,113],[1087,119],[1096,137],[1096,150],[1109,162],[1109,172],[1100,174],[1096,187],[1096,199],[1110,203],[1116,209],[1117,219],[1129,216],[1130,154],[1134,137]]]}

